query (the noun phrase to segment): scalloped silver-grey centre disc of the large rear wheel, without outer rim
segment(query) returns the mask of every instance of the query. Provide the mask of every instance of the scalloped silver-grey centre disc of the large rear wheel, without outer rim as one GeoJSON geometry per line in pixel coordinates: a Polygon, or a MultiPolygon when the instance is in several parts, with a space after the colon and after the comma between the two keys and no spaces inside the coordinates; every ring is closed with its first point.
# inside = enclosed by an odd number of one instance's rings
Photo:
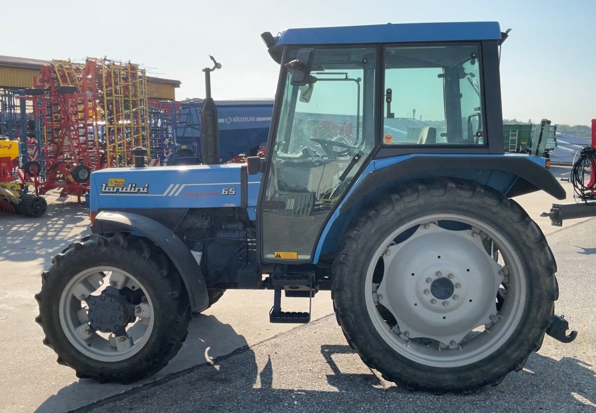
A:
{"type": "Polygon", "coordinates": [[[491,324],[502,267],[473,230],[429,223],[383,255],[378,302],[402,339],[425,337],[456,348],[473,328],[491,324]]]}

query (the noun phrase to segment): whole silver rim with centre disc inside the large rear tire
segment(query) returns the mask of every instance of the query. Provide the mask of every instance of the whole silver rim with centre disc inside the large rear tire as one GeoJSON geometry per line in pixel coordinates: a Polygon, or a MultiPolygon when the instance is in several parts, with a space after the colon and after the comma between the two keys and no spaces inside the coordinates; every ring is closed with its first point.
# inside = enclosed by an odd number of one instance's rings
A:
{"type": "Polygon", "coordinates": [[[386,237],[373,257],[365,280],[368,314],[384,342],[411,361],[443,368],[473,364],[501,348],[522,319],[522,262],[501,233],[479,220],[417,218],[386,237]],[[454,221],[468,229],[445,228],[454,221]],[[413,233],[399,242],[406,230],[413,233]],[[374,279],[379,259],[380,282],[378,272],[374,279]],[[497,311],[499,290],[505,296],[497,311]],[[386,320],[387,311],[395,320],[386,320]]]}

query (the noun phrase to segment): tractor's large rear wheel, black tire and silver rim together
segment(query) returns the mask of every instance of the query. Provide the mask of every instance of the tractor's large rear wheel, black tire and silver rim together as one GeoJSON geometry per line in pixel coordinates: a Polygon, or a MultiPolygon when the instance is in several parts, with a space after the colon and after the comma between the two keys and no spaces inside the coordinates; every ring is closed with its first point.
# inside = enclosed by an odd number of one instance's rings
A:
{"type": "Polygon", "coordinates": [[[554,258],[526,212],[488,187],[402,187],[361,214],[338,253],[338,321],[387,380],[470,392],[520,370],[542,344],[554,258]]]}

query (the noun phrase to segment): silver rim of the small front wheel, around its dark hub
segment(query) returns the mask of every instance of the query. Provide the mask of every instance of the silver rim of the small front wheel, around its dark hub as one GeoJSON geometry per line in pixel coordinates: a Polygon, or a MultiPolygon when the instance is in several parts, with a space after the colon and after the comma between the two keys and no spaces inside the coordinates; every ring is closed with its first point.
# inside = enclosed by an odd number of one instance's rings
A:
{"type": "Polygon", "coordinates": [[[126,271],[109,266],[80,271],[66,284],[58,303],[60,326],[66,338],[77,351],[97,361],[122,361],[138,353],[151,336],[154,314],[145,287],[126,271]],[[140,289],[143,293],[141,303],[135,308],[136,318],[126,327],[126,336],[92,331],[89,325],[85,300],[99,296],[107,286],[140,289]]]}

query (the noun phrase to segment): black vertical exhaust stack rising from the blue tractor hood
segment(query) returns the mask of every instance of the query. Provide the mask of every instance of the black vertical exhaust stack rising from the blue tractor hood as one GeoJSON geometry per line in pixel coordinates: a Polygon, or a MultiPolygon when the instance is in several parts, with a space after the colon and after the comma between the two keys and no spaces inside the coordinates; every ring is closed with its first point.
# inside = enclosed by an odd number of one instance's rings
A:
{"type": "Polygon", "coordinates": [[[218,108],[211,97],[211,72],[221,69],[222,65],[213,61],[213,67],[203,69],[205,73],[205,100],[201,108],[201,161],[204,165],[219,164],[219,128],[218,108]]]}

